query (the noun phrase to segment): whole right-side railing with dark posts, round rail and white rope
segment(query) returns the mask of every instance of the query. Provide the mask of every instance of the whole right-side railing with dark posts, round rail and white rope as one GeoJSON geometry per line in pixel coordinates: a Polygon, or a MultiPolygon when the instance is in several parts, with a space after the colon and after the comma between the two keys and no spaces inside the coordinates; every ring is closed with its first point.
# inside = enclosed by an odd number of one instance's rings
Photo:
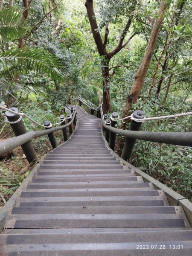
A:
{"type": "MultiPolygon", "coordinates": [[[[150,131],[139,131],[141,127],[141,122],[143,121],[144,112],[143,111],[134,111],[133,115],[134,118],[131,119],[130,128],[129,130],[122,130],[115,128],[116,120],[118,121],[118,113],[112,113],[111,119],[111,126],[108,124],[107,121],[104,119],[102,107],[100,108],[101,113],[101,121],[102,127],[105,131],[110,131],[110,138],[109,138],[109,146],[114,150],[115,146],[115,138],[116,134],[126,137],[125,145],[122,151],[122,158],[125,160],[129,160],[131,156],[131,152],[133,150],[134,144],[136,140],[145,140],[150,142],[156,143],[165,143],[165,144],[172,144],[172,145],[180,145],[180,146],[189,146],[192,147],[192,132],[150,132],[150,131]],[[117,117],[117,118],[114,118],[117,117]],[[137,122],[135,122],[137,121],[137,122]],[[107,123],[106,123],[107,122],[107,123]]],[[[182,113],[182,116],[191,115],[191,112],[182,113]]],[[[178,117],[181,114],[176,115],[169,115],[169,117],[178,117]]],[[[165,116],[164,116],[165,118],[165,116]]],[[[157,118],[155,118],[157,119],[157,118]]],[[[107,140],[107,132],[106,132],[106,140],[107,140]]]]}

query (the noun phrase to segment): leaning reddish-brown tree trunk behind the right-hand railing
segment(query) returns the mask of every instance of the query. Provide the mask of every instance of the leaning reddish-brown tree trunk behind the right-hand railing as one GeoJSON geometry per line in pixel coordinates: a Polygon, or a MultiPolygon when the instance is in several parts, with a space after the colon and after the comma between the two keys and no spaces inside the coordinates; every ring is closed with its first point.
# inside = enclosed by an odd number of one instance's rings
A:
{"type": "MultiPolygon", "coordinates": [[[[145,10],[145,6],[141,0],[138,0],[143,10],[145,10]]],[[[154,52],[154,49],[157,44],[157,37],[160,31],[161,24],[163,22],[163,19],[165,17],[165,11],[167,7],[167,0],[161,0],[160,6],[158,9],[157,17],[151,17],[150,15],[146,14],[146,17],[148,21],[151,24],[151,34],[148,41],[148,46],[146,48],[145,54],[143,56],[143,60],[140,64],[139,69],[137,70],[133,84],[131,86],[131,91],[127,97],[125,107],[122,111],[122,117],[128,116],[130,114],[130,111],[132,109],[132,104],[137,103],[138,96],[140,93],[140,90],[143,86],[145,77],[147,75],[149,65],[151,63],[151,58],[154,52]]],[[[122,128],[125,129],[126,122],[122,123],[122,128]]]]}

